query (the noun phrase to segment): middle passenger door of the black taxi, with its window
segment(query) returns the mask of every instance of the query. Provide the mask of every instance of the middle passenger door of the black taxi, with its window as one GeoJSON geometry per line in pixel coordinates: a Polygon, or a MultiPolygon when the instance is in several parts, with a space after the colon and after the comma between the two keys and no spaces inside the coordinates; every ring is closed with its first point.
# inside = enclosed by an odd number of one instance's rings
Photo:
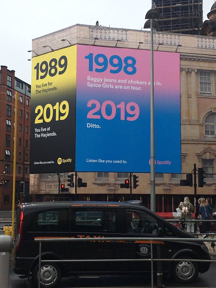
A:
{"type": "MultiPolygon", "coordinates": [[[[73,242],[71,244],[71,259],[121,259],[121,242],[103,241],[105,237],[119,236],[119,209],[100,206],[71,207],[71,238],[100,238],[95,242],[73,242]]],[[[70,271],[83,274],[100,272],[112,274],[120,272],[119,262],[76,262],[70,265],[70,271]]]]}

